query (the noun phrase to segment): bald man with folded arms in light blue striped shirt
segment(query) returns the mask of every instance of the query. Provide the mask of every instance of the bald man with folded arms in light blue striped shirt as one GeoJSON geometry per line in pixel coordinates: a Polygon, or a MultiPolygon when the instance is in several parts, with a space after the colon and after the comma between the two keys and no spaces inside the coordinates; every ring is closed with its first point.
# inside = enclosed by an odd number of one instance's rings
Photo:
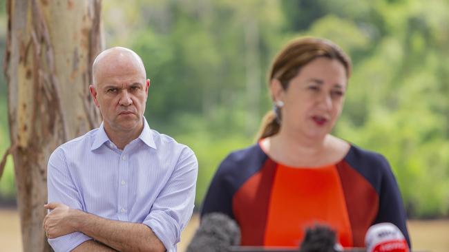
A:
{"type": "Polygon", "coordinates": [[[132,50],[111,48],[95,59],[89,89],[102,125],[48,161],[44,229],[55,251],[176,251],[198,162],[189,147],[150,129],[149,87],[132,50]]]}

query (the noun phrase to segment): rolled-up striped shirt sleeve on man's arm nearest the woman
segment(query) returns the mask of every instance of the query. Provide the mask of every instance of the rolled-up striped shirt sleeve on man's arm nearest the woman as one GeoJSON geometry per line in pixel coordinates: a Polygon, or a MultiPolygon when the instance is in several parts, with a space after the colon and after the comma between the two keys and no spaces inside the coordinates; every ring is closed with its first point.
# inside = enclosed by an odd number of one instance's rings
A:
{"type": "Polygon", "coordinates": [[[198,161],[193,151],[185,147],[173,174],[157,196],[143,224],[150,227],[167,251],[176,251],[181,231],[189,222],[195,204],[198,161]]]}

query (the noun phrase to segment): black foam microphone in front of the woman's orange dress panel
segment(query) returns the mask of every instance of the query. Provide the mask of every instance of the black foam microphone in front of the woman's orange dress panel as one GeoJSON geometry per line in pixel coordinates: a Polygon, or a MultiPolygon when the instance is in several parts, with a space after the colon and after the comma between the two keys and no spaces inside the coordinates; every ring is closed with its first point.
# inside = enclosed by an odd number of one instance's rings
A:
{"type": "Polygon", "coordinates": [[[343,251],[341,244],[336,242],[335,231],[327,226],[317,224],[305,231],[300,252],[339,252],[343,251]]]}

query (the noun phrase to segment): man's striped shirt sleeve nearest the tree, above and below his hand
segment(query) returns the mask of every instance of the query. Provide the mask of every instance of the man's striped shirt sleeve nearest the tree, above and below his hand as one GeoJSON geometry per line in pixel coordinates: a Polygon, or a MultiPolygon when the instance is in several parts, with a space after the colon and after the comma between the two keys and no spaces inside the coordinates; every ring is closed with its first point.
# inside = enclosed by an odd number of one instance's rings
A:
{"type": "MultiPolygon", "coordinates": [[[[81,197],[70,177],[64,152],[60,148],[57,148],[48,160],[47,189],[48,202],[61,202],[71,209],[83,210],[81,197]]],[[[79,244],[91,239],[84,233],[74,232],[48,239],[48,243],[56,252],[72,251],[79,244]]]]}

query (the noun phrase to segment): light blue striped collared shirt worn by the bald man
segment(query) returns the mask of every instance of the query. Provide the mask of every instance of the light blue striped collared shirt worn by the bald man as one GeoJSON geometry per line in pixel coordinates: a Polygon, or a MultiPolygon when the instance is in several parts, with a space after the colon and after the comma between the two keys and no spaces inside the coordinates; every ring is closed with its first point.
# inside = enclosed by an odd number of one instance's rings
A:
{"type": "MultiPolygon", "coordinates": [[[[48,202],[110,220],[150,227],[167,251],[176,251],[195,200],[198,161],[193,151],[150,129],[123,150],[103,124],[58,147],[48,161],[48,202]]],[[[48,242],[55,251],[71,251],[92,238],[69,233],[48,242]]]]}

